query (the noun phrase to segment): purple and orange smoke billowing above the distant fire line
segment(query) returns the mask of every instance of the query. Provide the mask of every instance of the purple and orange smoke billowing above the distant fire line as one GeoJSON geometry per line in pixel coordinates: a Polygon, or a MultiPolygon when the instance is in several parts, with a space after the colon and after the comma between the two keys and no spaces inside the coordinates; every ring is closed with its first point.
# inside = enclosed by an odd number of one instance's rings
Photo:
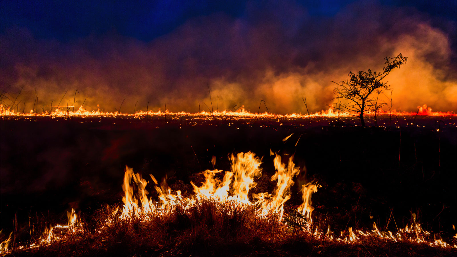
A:
{"type": "Polygon", "coordinates": [[[456,112],[455,21],[434,22],[409,7],[356,2],[318,17],[287,2],[248,3],[235,18],[192,18],[151,42],[116,33],[60,42],[11,27],[1,35],[0,87],[11,100],[22,88],[16,103],[27,112],[63,98],[61,107],[75,100],[76,107],[104,111],[164,110],[166,103],[170,111],[244,105],[257,112],[264,100],[270,112],[306,113],[302,97],[310,112],[326,109],[331,81],[346,80],[349,71],[380,71],[384,57],[402,53],[407,63],[386,77],[393,108],[427,104],[456,112]]]}

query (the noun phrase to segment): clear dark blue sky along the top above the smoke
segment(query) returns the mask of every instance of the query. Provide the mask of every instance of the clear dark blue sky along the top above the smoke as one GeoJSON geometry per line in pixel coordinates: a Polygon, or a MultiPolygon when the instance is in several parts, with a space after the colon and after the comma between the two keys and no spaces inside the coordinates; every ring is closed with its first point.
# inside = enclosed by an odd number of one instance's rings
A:
{"type": "MultiPolygon", "coordinates": [[[[159,0],[159,1],[105,1],[105,0],[2,0],[0,29],[19,26],[28,28],[34,37],[69,40],[88,35],[114,33],[150,41],[167,34],[185,21],[212,13],[231,17],[244,15],[246,5],[262,5],[262,1],[159,0]]],[[[319,18],[333,16],[350,0],[298,1],[308,14],[319,18]]],[[[411,6],[430,16],[456,19],[455,0],[383,0],[383,5],[411,6]]],[[[388,17],[386,17],[388,19],[388,17]]]]}

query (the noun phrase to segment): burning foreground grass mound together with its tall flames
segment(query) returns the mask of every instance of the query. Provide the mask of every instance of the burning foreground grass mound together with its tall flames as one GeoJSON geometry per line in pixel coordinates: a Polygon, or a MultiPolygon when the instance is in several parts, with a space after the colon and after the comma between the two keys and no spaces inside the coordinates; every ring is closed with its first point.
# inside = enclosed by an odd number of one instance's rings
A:
{"type": "MultiPolygon", "coordinates": [[[[192,182],[193,193],[172,191],[164,180],[153,193],[140,174],[126,167],[123,205],[99,209],[81,220],[68,213],[67,225],[46,229],[33,243],[2,243],[12,256],[404,256],[451,255],[457,246],[423,230],[412,213],[412,223],[398,231],[332,231],[313,219],[311,195],[316,182],[305,183],[303,203],[287,206],[294,177],[292,157],[276,155],[272,193],[252,192],[260,177],[255,154],[231,155],[231,171],[206,170],[202,182],[192,182]],[[149,196],[150,195],[150,196],[149,196]],[[8,248],[9,247],[9,248],[8,248]]],[[[215,165],[215,158],[213,158],[215,165]]],[[[16,235],[15,235],[16,236],[16,235]]],[[[456,235],[457,238],[457,235],[456,235]]]]}

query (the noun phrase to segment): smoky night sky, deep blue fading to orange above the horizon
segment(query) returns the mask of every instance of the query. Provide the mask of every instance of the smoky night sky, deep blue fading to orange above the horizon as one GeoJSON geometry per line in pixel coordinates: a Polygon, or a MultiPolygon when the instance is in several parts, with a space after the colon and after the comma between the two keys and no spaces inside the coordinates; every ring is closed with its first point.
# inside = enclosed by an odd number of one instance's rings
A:
{"type": "Polygon", "coordinates": [[[219,109],[304,113],[303,96],[325,109],[332,80],[402,53],[393,108],[456,111],[455,1],[109,2],[1,1],[1,90],[27,111],[78,89],[77,107],[195,112],[208,83],[219,109]]]}

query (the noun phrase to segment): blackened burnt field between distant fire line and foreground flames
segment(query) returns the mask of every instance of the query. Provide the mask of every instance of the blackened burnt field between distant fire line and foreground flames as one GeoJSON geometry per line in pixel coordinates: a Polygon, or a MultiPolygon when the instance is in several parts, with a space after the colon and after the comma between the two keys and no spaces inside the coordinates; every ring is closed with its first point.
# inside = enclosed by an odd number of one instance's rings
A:
{"type": "MultiPolygon", "coordinates": [[[[230,171],[228,155],[251,151],[262,158],[263,168],[252,192],[271,192],[276,185],[270,179],[275,174],[272,151],[283,162],[293,155],[300,167],[291,199],[285,203],[286,214],[300,205],[301,186],[314,181],[321,187],[313,194],[313,220],[322,230],[327,225],[338,235],[349,227],[371,230],[374,221],[380,230],[394,231],[410,224],[414,213],[423,230],[453,245],[455,123],[453,116],[381,116],[376,127],[369,118],[367,125],[372,127],[362,129],[356,126],[357,119],[344,117],[2,117],[0,227],[8,234],[15,231],[17,245],[37,239],[43,225],[65,223],[65,211],[71,208],[81,211],[81,220],[90,223],[105,204],[122,204],[126,165],[143,177],[167,177],[172,190],[191,195],[190,181],[202,182],[199,172],[230,171]]],[[[147,188],[154,191],[152,186],[147,188]]],[[[415,250],[408,249],[414,247],[405,246],[405,251],[410,254],[415,250]]],[[[233,254],[250,252],[250,247],[240,249],[233,254]]],[[[298,254],[287,249],[263,250],[298,254]]],[[[418,250],[419,255],[430,251],[418,250]]],[[[218,255],[216,250],[186,253],[218,255]]],[[[152,255],[158,254],[167,255],[162,250],[152,255]]]]}

